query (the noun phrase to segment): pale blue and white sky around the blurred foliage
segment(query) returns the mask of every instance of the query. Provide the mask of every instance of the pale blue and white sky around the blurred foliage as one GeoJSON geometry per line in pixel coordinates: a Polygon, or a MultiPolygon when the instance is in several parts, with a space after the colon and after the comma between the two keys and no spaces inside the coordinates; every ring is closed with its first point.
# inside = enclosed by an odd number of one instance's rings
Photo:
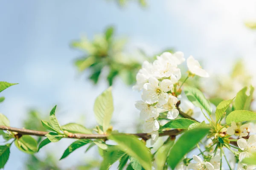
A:
{"type": "MultiPolygon", "coordinates": [[[[46,115],[57,104],[61,124],[95,125],[93,102],[107,84],[101,80],[94,87],[77,74],[73,59],[81,53],[69,44],[82,34],[92,38],[109,25],[116,27],[117,36],[129,38],[130,53],[138,47],[148,54],[174,47],[186,57],[202,59],[210,73],[227,72],[235,58],[243,57],[247,68],[256,73],[256,32],[243,24],[253,19],[253,0],[148,0],[148,8],[137,3],[120,8],[111,0],[0,0],[0,80],[20,83],[1,93],[6,101],[0,112],[12,126],[21,127],[29,108],[46,115]]],[[[134,102],[140,94],[117,80],[113,98],[116,129],[134,132],[139,117],[134,102]]],[[[70,142],[63,140],[45,149],[60,158],[70,142]]],[[[15,147],[11,152],[5,169],[23,169],[26,154],[15,147]]],[[[72,167],[91,156],[83,152],[78,150],[60,163],[72,167]]]]}

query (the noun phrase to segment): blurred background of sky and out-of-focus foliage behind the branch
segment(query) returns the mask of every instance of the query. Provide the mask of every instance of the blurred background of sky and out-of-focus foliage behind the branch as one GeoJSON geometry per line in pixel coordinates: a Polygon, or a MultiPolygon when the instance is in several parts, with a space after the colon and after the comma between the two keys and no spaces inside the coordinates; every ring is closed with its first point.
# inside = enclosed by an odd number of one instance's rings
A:
{"type": "MultiPolygon", "coordinates": [[[[199,59],[211,77],[198,80],[198,88],[211,98],[233,98],[244,85],[256,85],[254,21],[253,0],[2,0],[0,81],[19,85],[1,93],[6,100],[0,113],[13,127],[40,130],[40,120],[57,104],[62,125],[93,128],[94,100],[112,85],[112,125],[135,133],[136,72],[163,51],[199,59]]],[[[96,148],[58,161],[72,142],[49,144],[35,156],[12,146],[5,169],[85,170],[99,164],[96,148]]]]}

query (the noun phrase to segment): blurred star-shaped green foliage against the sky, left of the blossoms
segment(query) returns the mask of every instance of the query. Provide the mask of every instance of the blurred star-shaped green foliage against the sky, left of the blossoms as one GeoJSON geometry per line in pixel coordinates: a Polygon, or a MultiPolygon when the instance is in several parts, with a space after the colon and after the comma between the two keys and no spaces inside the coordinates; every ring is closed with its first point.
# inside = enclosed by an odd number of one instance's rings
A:
{"type": "Polygon", "coordinates": [[[100,75],[107,71],[106,79],[110,86],[117,76],[127,85],[133,85],[141,63],[123,52],[125,43],[125,39],[114,38],[113,27],[108,27],[103,35],[96,35],[93,41],[82,37],[81,40],[71,43],[73,48],[85,53],[83,57],[76,59],[75,65],[81,72],[90,70],[88,78],[94,84],[97,84],[100,75]]]}

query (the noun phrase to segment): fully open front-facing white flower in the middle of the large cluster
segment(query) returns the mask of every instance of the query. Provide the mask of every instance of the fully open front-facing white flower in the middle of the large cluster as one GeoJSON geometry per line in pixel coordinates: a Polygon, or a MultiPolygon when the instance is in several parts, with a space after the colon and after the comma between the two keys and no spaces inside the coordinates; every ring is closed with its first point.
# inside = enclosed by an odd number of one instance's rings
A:
{"type": "Polygon", "coordinates": [[[169,99],[169,94],[166,92],[172,90],[172,88],[173,84],[171,80],[164,79],[159,85],[158,79],[150,77],[148,83],[145,83],[143,86],[141,97],[148,104],[158,102],[160,105],[164,105],[169,99]]]}

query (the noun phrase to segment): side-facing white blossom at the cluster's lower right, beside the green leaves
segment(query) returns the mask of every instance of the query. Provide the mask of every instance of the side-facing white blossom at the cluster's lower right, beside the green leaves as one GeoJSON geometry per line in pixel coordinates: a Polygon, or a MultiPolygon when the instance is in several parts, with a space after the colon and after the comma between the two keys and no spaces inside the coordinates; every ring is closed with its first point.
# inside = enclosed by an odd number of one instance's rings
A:
{"type": "Polygon", "coordinates": [[[176,103],[178,102],[177,97],[169,95],[169,100],[166,104],[158,106],[158,110],[160,113],[168,111],[167,118],[168,119],[176,119],[179,115],[179,111],[176,109],[176,103]]]}

